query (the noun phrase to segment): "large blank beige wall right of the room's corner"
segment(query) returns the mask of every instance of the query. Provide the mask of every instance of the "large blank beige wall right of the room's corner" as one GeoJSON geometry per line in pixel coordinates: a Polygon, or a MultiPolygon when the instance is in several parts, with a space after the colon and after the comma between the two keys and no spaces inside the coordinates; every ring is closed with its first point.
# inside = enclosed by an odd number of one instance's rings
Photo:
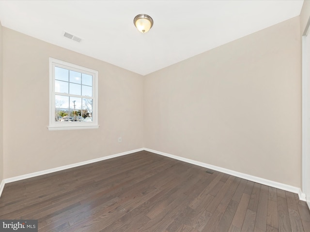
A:
{"type": "Polygon", "coordinates": [[[297,16],[147,75],[144,146],[301,187],[300,48],[297,16]]]}

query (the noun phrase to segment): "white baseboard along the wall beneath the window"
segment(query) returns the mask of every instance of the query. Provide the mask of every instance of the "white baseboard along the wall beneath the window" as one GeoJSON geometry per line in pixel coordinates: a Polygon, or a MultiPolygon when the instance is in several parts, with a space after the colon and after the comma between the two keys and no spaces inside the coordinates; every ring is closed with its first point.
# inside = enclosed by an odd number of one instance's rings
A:
{"type": "Polygon", "coordinates": [[[24,179],[28,179],[28,178],[39,176],[39,175],[54,173],[54,172],[62,171],[62,170],[69,169],[69,168],[75,168],[78,166],[82,166],[85,164],[90,164],[90,163],[94,163],[94,162],[98,162],[98,161],[102,161],[102,160],[109,160],[109,159],[112,159],[115,157],[124,156],[124,155],[128,155],[128,154],[135,153],[138,151],[143,151],[143,150],[144,150],[143,148],[140,148],[140,149],[126,151],[126,152],[122,152],[122,153],[118,153],[118,154],[114,154],[114,155],[110,155],[110,156],[100,157],[100,158],[93,159],[93,160],[86,160],[86,161],[79,162],[79,163],[73,163],[73,164],[69,164],[69,165],[65,165],[65,166],[61,166],[61,167],[57,167],[57,168],[51,168],[51,169],[47,169],[47,170],[40,171],[40,172],[35,172],[35,173],[19,175],[19,176],[15,176],[15,177],[11,177],[11,178],[6,178],[6,179],[2,180],[1,185],[0,185],[0,197],[1,197],[2,190],[4,188],[4,184],[6,184],[6,183],[11,183],[11,182],[18,181],[18,180],[24,180],[24,179]]]}

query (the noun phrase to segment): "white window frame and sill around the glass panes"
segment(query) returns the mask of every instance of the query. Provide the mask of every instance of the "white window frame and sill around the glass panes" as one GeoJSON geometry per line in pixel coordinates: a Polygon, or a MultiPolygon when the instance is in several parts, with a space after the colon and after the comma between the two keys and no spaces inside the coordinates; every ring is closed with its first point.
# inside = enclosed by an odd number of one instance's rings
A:
{"type": "MultiPolygon", "coordinates": [[[[82,96],[81,96],[82,97],[82,96]]],[[[98,71],[88,69],[59,59],[49,58],[49,131],[97,129],[98,125],[98,71]],[[93,76],[93,121],[55,122],[55,66],[93,76]]]]}

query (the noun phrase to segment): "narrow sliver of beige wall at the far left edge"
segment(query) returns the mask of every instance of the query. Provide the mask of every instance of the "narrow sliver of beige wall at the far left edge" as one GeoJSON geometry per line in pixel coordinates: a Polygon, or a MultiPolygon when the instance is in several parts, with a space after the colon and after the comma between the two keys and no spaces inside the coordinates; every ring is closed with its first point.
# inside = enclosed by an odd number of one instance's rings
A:
{"type": "Polygon", "coordinates": [[[2,25],[0,22],[0,183],[3,179],[2,25]]]}

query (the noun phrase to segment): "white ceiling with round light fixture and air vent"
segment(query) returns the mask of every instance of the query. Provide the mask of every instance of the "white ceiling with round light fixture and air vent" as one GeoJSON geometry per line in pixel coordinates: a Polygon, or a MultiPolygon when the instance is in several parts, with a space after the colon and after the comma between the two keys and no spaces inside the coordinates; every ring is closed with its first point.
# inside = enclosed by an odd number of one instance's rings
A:
{"type": "Polygon", "coordinates": [[[0,0],[2,26],[146,75],[300,14],[303,0],[0,0]],[[153,28],[140,33],[137,14],[153,28]],[[63,37],[64,31],[82,42],[63,37]]]}

